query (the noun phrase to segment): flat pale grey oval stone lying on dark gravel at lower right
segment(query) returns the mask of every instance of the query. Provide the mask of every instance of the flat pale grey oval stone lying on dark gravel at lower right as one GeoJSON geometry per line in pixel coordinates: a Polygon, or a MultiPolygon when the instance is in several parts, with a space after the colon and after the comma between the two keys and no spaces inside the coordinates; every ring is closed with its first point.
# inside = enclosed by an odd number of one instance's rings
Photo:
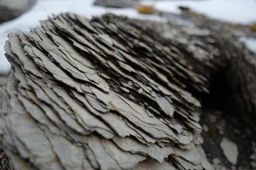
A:
{"type": "Polygon", "coordinates": [[[234,142],[226,139],[225,137],[223,137],[223,140],[221,141],[220,145],[227,160],[232,165],[236,165],[238,157],[237,145],[234,142]]]}

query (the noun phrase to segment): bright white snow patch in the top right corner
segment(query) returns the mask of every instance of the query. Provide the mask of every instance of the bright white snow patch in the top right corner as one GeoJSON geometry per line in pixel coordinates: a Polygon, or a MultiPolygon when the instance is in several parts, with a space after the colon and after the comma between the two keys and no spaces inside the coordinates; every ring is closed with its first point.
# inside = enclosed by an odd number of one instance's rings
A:
{"type": "Polygon", "coordinates": [[[192,11],[205,14],[213,19],[237,24],[256,22],[255,0],[160,0],[155,2],[156,9],[180,14],[179,6],[189,7],[192,11]]]}

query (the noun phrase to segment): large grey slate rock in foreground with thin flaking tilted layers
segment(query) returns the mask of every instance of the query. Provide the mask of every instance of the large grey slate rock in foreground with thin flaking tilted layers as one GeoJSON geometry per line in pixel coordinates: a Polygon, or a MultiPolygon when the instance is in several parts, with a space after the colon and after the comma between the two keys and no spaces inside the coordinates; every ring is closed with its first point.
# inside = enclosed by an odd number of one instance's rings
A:
{"type": "Polygon", "coordinates": [[[115,15],[8,37],[0,134],[16,169],[211,169],[189,90],[208,91],[213,66],[115,15]]]}

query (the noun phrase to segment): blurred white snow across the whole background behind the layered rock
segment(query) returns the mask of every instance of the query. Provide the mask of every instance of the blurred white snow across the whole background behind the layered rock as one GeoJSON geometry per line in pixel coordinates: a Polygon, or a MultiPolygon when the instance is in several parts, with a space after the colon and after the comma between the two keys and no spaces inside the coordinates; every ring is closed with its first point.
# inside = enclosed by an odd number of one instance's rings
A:
{"type": "MultiPolygon", "coordinates": [[[[0,24],[0,73],[10,69],[9,62],[4,57],[4,42],[7,40],[7,33],[29,31],[39,25],[39,20],[45,20],[51,14],[72,12],[91,18],[104,13],[115,13],[131,18],[166,21],[166,18],[160,16],[139,14],[133,8],[105,8],[94,6],[93,2],[94,0],[38,0],[30,11],[12,21],[0,24]]],[[[241,24],[256,22],[256,0],[161,0],[155,2],[156,9],[177,14],[180,13],[178,6],[181,5],[223,21],[241,24]]]]}

